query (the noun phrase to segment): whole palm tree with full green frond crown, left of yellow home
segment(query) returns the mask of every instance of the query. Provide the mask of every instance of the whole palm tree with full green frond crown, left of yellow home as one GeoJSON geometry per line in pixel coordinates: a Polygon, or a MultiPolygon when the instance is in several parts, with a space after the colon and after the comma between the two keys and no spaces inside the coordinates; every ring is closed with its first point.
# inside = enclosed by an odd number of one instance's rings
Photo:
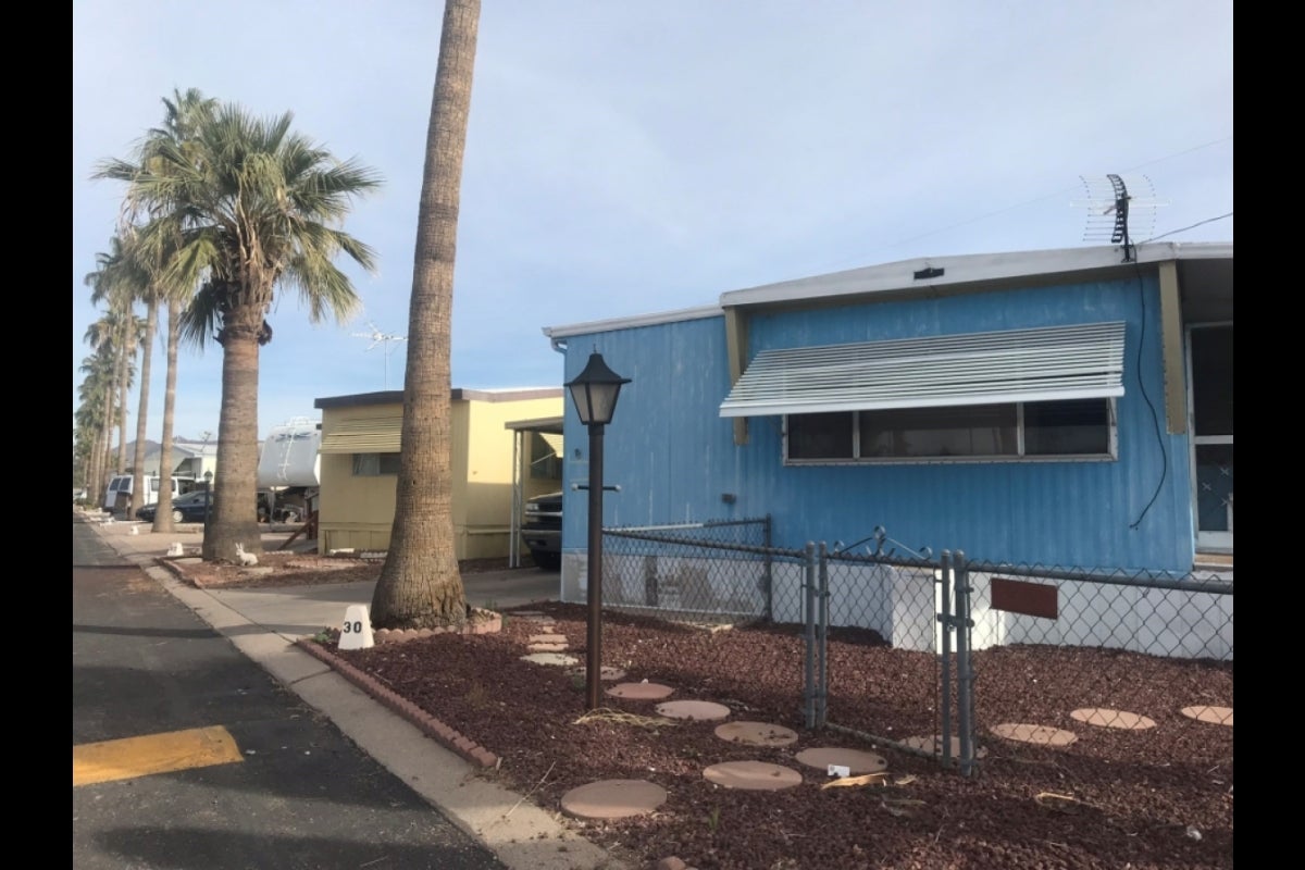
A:
{"type": "Polygon", "coordinates": [[[98,177],[128,184],[128,210],[150,215],[146,249],[175,253],[166,275],[198,291],[181,314],[181,334],[222,347],[218,470],[206,560],[231,560],[235,545],[260,552],[258,348],[271,340],[265,320],[274,290],[296,291],[309,321],[347,320],[359,300],[334,265],[343,252],[364,269],[375,254],[339,228],[352,201],[380,187],[356,160],[339,160],[294,133],[294,116],[256,119],[222,104],[204,113],[184,141],[162,138],[140,164],[103,163],[98,177]]]}

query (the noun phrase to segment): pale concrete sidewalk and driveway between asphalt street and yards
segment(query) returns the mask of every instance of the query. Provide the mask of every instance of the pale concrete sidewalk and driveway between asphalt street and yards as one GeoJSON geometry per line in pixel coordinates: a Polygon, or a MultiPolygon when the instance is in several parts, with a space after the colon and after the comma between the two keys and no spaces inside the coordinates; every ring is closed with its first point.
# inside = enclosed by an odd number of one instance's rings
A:
{"type": "MultiPolygon", "coordinates": [[[[76,514],[74,522],[78,522],[76,514]]],[[[197,547],[200,530],[183,527],[185,531],[154,535],[149,526],[140,523],[89,524],[107,545],[145,569],[240,652],[329,717],[363,751],[480,840],[512,870],[622,867],[599,847],[570,832],[559,814],[476,776],[478,768],[295,646],[305,634],[338,625],[348,605],[369,604],[375,583],[197,590],[177,580],[157,563],[157,558],[164,556],[174,541],[197,547]],[[136,535],[130,532],[132,526],[137,528],[136,535]]],[[[290,533],[290,527],[264,532],[264,548],[277,549],[290,533]]],[[[527,569],[468,574],[463,586],[467,601],[476,607],[489,603],[513,607],[557,596],[555,574],[527,569]]]]}

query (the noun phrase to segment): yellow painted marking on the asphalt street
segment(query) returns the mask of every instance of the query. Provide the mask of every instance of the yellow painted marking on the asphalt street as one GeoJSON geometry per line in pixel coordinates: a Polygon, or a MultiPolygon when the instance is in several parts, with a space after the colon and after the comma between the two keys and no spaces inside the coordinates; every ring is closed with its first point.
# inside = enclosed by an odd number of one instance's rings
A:
{"type": "Polygon", "coordinates": [[[73,788],[243,760],[221,725],[107,740],[73,746],[73,788]]]}

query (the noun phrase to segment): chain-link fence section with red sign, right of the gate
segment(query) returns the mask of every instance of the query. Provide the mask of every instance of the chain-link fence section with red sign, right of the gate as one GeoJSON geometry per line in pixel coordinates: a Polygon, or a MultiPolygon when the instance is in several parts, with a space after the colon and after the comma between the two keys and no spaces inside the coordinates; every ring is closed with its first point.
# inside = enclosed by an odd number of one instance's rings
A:
{"type": "Polygon", "coordinates": [[[1232,754],[1232,573],[964,563],[976,741],[1122,751],[1176,768],[1232,754]],[[1184,749],[1185,747],[1185,749],[1184,749]]]}

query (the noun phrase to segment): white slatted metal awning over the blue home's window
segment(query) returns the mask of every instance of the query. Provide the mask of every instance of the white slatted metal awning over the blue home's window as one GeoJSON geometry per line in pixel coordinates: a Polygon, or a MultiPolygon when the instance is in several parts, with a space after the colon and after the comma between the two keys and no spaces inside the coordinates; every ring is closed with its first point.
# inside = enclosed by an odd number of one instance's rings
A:
{"type": "Polygon", "coordinates": [[[1124,395],[1124,323],[762,351],[723,417],[1124,395]]]}

